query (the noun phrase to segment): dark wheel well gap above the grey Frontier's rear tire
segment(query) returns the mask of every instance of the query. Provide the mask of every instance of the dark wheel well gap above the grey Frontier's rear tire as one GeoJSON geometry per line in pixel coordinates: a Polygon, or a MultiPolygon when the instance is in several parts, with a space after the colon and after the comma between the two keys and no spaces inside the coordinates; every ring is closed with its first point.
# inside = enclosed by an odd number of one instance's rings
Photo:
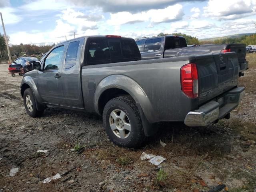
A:
{"type": "Polygon", "coordinates": [[[115,97],[123,96],[123,95],[129,95],[129,93],[122,89],[118,89],[118,88],[110,88],[110,89],[105,90],[101,94],[99,101],[98,101],[98,109],[99,109],[100,114],[102,115],[103,109],[109,100],[111,100],[115,97]]]}

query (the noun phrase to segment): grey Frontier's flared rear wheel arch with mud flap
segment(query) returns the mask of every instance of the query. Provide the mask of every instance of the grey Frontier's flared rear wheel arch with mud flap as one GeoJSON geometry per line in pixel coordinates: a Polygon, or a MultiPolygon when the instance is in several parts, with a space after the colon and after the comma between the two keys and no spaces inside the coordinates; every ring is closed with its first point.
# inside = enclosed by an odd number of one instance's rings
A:
{"type": "Polygon", "coordinates": [[[146,136],[152,136],[155,130],[152,128],[151,122],[154,122],[155,119],[157,119],[157,115],[154,114],[154,109],[144,90],[136,81],[128,76],[115,74],[108,76],[100,81],[94,92],[95,111],[100,114],[98,107],[100,96],[104,91],[110,88],[122,89],[130,94],[130,96],[135,100],[138,110],[140,112],[144,128],[144,134],[146,136]]]}

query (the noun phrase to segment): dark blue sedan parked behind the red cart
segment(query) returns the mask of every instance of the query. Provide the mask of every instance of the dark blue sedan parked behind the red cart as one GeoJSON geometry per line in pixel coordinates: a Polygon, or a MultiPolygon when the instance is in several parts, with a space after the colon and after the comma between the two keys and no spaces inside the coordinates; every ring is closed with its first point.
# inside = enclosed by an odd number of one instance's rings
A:
{"type": "Polygon", "coordinates": [[[16,68],[17,70],[23,68],[25,72],[28,72],[30,71],[32,63],[37,60],[38,59],[35,57],[20,57],[12,62],[9,67],[16,68]]]}

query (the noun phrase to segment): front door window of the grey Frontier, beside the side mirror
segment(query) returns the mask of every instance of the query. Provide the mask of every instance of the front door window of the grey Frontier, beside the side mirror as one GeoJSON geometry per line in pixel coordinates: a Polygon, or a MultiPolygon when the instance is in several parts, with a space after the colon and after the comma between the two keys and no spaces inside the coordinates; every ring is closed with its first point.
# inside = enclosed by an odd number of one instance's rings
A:
{"type": "Polygon", "coordinates": [[[59,69],[61,66],[61,59],[64,52],[64,46],[60,46],[52,50],[50,54],[46,57],[44,62],[44,70],[54,70],[59,69]]]}

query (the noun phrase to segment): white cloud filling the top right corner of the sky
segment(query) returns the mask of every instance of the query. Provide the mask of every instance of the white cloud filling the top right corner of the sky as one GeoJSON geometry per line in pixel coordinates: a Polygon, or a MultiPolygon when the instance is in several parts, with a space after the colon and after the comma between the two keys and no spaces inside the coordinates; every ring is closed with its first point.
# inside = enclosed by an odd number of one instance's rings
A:
{"type": "Polygon", "coordinates": [[[244,16],[255,15],[256,0],[209,0],[204,7],[205,17],[218,20],[230,20],[244,16]]]}

